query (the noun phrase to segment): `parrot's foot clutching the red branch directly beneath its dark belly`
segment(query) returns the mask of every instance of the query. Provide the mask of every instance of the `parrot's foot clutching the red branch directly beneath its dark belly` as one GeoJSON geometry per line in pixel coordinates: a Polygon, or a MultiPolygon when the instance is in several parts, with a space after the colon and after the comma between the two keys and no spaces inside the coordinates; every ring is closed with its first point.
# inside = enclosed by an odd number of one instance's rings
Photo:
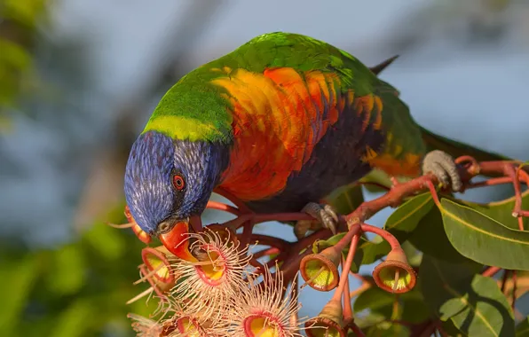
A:
{"type": "Polygon", "coordinates": [[[294,233],[296,234],[297,239],[303,238],[305,233],[309,230],[319,230],[321,226],[332,231],[333,234],[336,234],[339,218],[336,210],[332,206],[309,202],[301,211],[314,217],[316,220],[298,221],[294,226],[294,233]]]}

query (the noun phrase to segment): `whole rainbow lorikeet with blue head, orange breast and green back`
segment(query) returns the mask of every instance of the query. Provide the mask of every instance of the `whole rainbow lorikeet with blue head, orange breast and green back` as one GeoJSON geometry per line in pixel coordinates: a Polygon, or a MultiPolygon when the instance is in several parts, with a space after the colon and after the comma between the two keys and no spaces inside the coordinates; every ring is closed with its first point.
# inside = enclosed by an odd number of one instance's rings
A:
{"type": "Polygon", "coordinates": [[[130,214],[174,254],[216,187],[257,212],[304,210],[328,223],[329,192],[382,169],[431,171],[461,187],[452,155],[493,158],[418,126],[399,91],[336,47],[259,35],[194,69],[162,98],[132,145],[130,214]],[[428,156],[427,153],[433,151],[428,156]],[[426,158],[425,158],[426,156],[426,158]],[[178,235],[176,235],[176,234],[178,235]]]}

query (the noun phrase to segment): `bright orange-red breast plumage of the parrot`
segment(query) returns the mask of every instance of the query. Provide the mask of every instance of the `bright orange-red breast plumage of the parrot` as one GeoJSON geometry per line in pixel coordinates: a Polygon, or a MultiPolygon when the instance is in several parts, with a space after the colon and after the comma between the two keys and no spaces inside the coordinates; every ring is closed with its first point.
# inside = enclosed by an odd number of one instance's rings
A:
{"type": "Polygon", "coordinates": [[[288,67],[263,74],[224,70],[229,76],[214,83],[228,91],[233,105],[234,145],[221,187],[241,200],[271,197],[311,158],[314,145],[354,95],[343,95],[332,73],[299,74],[288,67]]]}

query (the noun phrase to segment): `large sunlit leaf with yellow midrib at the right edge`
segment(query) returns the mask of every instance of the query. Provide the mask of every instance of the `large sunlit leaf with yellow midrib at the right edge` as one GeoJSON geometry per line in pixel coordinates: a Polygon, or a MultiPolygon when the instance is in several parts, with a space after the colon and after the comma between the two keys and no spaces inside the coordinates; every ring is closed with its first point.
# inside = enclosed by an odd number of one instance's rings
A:
{"type": "Polygon", "coordinates": [[[529,231],[516,231],[454,201],[441,200],[446,236],[462,255],[478,263],[529,270],[529,231]]]}

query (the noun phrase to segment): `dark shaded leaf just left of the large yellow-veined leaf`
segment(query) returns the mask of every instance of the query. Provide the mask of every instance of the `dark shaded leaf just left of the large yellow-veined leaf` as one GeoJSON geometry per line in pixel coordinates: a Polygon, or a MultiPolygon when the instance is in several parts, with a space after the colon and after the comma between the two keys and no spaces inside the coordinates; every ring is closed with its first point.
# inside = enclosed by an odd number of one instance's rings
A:
{"type": "Polygon", "coordinates": [[[408,242],[422,253],[441,260],[453,263],[466,261],[446,237],[443,218],[438,208],[430,208],[430,212],[421,219],[408,242]]]}

